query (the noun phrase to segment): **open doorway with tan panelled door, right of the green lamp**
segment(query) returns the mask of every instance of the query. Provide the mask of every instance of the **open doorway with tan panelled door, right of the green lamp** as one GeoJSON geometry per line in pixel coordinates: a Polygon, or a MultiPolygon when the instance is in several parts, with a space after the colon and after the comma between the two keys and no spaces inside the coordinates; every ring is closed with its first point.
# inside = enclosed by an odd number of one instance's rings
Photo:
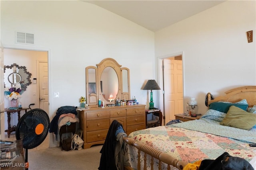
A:
{"type": "Polygon", "coordinates": [[[183,60],[182,54],[159,59],[160,106],[164,125],[184,112],[183,60]]]}

